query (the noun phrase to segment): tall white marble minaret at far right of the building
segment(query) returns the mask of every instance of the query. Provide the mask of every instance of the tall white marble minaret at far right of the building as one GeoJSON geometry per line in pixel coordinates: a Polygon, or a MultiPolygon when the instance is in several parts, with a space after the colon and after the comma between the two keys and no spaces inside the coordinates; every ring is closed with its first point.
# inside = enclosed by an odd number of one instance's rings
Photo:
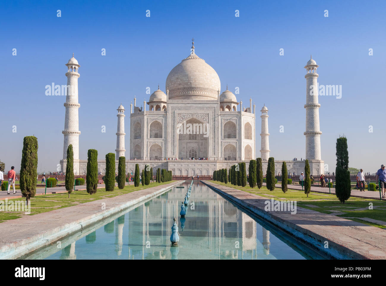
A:
{"type": "Polygon", "coordinates": [[[318,65],[312,59],[307,62],[304,67],[307,70],[304,76],[307,81],[306,85],[306,159],[308,160],[322,160],[320,155],[320,131],[319,125],[319,108],[318,103],[318,74],[316,73],[318,65]]]}

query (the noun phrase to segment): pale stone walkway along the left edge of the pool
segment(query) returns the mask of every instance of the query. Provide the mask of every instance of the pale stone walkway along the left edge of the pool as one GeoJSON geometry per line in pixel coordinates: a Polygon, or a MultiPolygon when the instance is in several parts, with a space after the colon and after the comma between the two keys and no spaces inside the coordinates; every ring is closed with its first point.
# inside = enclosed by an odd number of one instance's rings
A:
{"type": "Polygon", "coordinates": [[[184,181],[2,222],[0,224],[0,259],[17,259],[30,251],[40,249],[79,231],[87,225],[166,192],[182,182],[184,181]],[[105,209],[102,209],[102,203],[105,204],[105,209]]]}

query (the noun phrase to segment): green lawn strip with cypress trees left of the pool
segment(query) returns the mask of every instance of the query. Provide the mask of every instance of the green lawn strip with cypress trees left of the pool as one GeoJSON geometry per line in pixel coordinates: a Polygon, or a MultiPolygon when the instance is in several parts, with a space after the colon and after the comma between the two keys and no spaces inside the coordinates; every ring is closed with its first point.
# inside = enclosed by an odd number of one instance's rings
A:
{"type": "MultiPolygon", "coordinates": [[[[169,181],[164,183],[152,183],[151,185],[147,185],[147,186],[139,185],[138,187],[134,187],[134,185],[130,185],[130,186],[125,185],[125,187],[122,190],[119,190],[118,187],[115,187],[115,189],[112,192],[106,192],[105,189],[100,188],[100,189],[97,189],[97,193],[93,195],[88,194],[86,191],[75,191],[75,192],[73,191],[70,195],[70,198],[68,198],[68,193],[38,195],[30,200],[31,214],[29,215],[40,214],[42,212],[49,212],[50,210],[61,209],[64,207],[71,207],[73,205],[92,202],[94,200],[112,198],[118,195],[124,195],[126,193],[131,193],[131,192],[143,190],[146,188],[156,187],[159,185],[165,185],[173,182],[176,182],[176,181],[169,181]]],[[[25,199],[24,198],[10,199],[8,200],[8,202],[20,201],[20,200],[25,200],[25,199]]],[[[9,220],[9,219],[18,219],[23,215],[25,215],[24,212],[0,212],[0,222],[9,220]]]]}

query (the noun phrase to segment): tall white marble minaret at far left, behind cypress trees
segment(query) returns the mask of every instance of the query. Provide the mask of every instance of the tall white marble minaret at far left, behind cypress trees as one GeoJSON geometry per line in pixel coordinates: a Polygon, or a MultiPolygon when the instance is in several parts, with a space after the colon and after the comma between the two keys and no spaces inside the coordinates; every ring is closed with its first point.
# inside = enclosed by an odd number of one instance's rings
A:
{"type": "MultiPolygon", "coordinates": [[[[78,61],[73,57],[69,59],[67,66],[67,95],[64,107],[66,108],[66,116],[64,118],[64,135],[63,141],[63,160],[67,160],[67,148],[70,144],[73,145],[74,151],[74,174],[79,175],[79,116],[78,109],[80,104],[78,103],[78,68],[80,65],[78,61]]],[[[66,170],[62,170],[65,172],[66,170]]]]}

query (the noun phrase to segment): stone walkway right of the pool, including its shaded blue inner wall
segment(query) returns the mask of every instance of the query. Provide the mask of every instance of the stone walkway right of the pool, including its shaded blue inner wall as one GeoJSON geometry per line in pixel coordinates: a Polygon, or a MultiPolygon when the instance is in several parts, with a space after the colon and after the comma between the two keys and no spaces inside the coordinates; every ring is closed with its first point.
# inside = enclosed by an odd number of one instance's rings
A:
{"type": "Polygon", "coordinates": [[[202,182],[322,253],[337,259],[386,257],[386,230],[298,206],[296,214],[289,211],[267,212],[264,210],[267,198],[217,185],[213,181],[202,182]],[[326,241],[328,248],[324,247],[326,241]]]}

